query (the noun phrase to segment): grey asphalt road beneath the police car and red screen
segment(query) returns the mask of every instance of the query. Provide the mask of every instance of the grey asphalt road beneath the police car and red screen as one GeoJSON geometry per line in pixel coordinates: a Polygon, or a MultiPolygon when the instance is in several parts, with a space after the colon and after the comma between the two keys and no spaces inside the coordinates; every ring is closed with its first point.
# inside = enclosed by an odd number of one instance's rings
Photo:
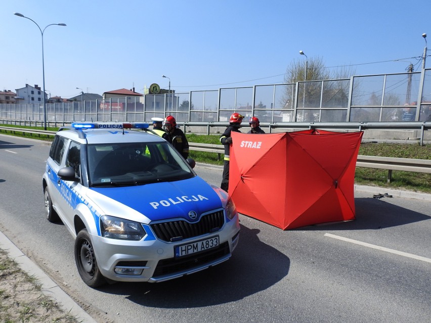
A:
{"type": "MultiPolygon", "coordinates": [[[[0,230],[99,322],[429,322],[430,202],[372,198],[384,192],[355,192],[351,222],[283,231],[241,215],[240,243],[221,265],[91,289],[67,229],[45,219],[49,148],[0,134],[0,230]]],[[[221,168],[195,170],[220,184],[221,168]]]]}

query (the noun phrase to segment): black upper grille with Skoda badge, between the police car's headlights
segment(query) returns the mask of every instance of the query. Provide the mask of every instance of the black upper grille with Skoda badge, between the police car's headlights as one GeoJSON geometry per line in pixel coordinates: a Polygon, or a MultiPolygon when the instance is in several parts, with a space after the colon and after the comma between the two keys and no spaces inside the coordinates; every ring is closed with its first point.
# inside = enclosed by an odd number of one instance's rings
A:
{"type": "Polygon", "coordinates": [[[206,214],[199,222],[189,223],[184,220],[151,224],[157,238],[166,242],[180,241],[212,233],[225,223],[223,210],[206,214]]]}

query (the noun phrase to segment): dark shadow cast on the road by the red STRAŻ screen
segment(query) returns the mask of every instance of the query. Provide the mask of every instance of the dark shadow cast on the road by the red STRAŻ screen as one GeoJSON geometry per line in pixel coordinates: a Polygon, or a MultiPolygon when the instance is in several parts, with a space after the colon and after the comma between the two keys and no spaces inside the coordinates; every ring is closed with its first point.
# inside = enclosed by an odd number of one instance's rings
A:
{"type": "Polygon", "coordinates": [[[322,223],[296,228],[295,230],[367,230],[399,226],[423,220],[429,216],[398,205],[387,203],[381,199],[356,198],[356,220],[348,222],[322,223]]]}

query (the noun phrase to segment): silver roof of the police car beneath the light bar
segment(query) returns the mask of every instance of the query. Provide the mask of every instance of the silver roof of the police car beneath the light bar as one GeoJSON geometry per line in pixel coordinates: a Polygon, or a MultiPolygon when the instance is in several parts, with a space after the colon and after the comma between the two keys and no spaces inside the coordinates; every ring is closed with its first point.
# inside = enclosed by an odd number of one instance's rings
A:
{"type": "Polygon", "coordinates": [[[128,130],[128,129],[123,131],[123,129],[63,128],[57,132],[57,135],[67,137],[68,139],[71,139],[81,144],[165,142],[165,140],[158,135],[154,135],[152,133],[148,133],[142,130],[128,130]]]}

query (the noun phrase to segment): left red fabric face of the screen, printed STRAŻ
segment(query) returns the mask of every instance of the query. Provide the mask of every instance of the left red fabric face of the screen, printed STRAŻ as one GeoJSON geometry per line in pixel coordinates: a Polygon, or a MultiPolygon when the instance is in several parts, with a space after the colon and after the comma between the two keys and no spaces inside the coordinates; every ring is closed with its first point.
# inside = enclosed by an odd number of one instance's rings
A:
{"type": "Polygon", "coordinates": [[[286,168],[268,165],[284,165],[285,138],[285,133],[232,133],[229,193],[235,206],[239,213],[275,226],[280,225],[285,210],[284,203],[272,201],[284,200],[286,168]]]}

